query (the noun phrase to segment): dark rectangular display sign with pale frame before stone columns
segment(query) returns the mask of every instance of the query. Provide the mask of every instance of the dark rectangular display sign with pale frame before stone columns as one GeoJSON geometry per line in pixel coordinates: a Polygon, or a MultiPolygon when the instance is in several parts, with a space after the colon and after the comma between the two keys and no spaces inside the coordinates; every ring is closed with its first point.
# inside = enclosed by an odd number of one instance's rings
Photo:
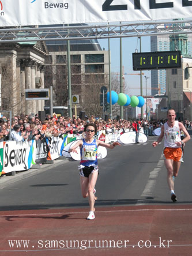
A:
{"type": "Polygon", "coordinates": [[[25,89],[25,100],[49,100],[49,89],[25,89]]]}

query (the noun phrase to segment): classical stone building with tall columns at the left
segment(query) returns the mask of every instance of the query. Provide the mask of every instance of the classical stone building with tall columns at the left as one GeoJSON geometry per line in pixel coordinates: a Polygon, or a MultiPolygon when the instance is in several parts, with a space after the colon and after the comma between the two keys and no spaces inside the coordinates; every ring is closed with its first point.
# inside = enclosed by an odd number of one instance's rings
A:
{"type": "Polygon", "coordinates": [[[44,88],[44,58],[47,55],[43,42],[1,45],[1,111],[30,115],[44,110],[44,100],[25,100],[25,89],[44,88]]]}

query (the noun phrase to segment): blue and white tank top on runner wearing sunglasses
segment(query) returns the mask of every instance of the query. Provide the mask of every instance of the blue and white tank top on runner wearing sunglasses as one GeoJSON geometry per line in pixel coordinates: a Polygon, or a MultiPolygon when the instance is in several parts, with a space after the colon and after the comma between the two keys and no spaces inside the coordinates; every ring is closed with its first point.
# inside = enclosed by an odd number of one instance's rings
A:
{"type": "Polygon", "coordinates": [[[81,161],[80,165],[90,166],[97,165],[97,142],[94,139],[91,143],[87,143],[85,139],[82,140],[81,161]]]}

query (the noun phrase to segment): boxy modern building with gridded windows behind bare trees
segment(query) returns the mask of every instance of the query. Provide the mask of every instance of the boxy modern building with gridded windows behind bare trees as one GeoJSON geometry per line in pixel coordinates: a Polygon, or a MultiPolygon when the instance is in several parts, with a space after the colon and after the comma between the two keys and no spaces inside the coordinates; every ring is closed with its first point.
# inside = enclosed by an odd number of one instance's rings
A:
{"type": "MultiPolygon", "coordinates": [[[[45,87],[53,86],[54,106],[67,106],[68,74],[67,52],[51,51],[45,63],[45,87]]],[[[78,95],[77,112],[97,115],[103,112],[100,106],[100,88],[108,88],[108,51],[70,51],[71,95],[78,95]],[[92,104],[88,100],[92,101],[92,104]]],[[[47,101],[46,104],[49,104],[47,101]]],[[[72,102],[73,114],[74,104],[72,102]]]]}

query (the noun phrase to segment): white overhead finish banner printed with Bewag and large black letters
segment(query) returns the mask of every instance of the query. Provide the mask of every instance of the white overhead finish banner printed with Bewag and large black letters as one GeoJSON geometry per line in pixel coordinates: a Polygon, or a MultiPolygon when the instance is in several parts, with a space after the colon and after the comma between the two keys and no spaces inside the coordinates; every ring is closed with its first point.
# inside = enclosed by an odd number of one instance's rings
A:
{"type": "Polygon", "coordinates": [[[191,0],[0,0],[0,27],[191,18],[191,0]]]}

